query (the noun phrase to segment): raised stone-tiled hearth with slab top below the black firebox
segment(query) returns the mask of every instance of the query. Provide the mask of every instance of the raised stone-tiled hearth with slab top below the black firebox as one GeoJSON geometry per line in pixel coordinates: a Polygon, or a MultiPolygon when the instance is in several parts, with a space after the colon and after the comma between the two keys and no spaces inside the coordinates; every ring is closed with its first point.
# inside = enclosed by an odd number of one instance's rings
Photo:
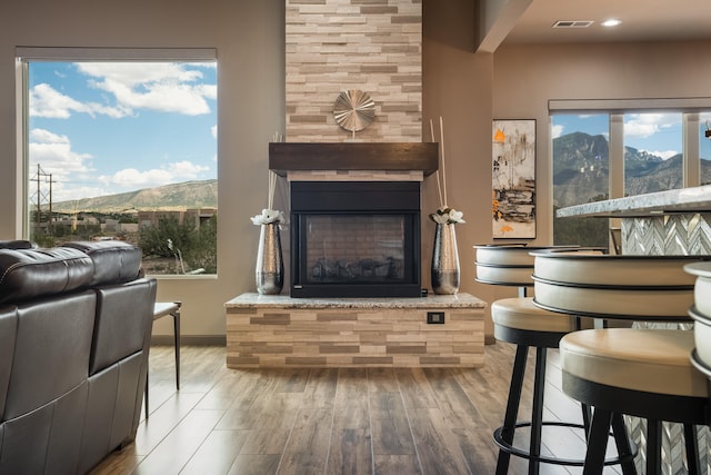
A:
{"type": "Polygon", "coordinates": [[[227,366],[477,368],[484,364],[485,305],[468,294],[388,299],[242,294],[226,304],[227,366]],[[442,323],[428,323],[428,314],[442,323]]]}

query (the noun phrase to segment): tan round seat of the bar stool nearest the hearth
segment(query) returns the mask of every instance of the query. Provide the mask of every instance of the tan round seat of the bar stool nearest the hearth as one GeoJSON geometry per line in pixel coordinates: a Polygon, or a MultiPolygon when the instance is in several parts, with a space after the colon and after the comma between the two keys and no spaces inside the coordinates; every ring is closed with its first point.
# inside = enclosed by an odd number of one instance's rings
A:
{"type": "Polygon", "coordinates": [[[494,325],[531,331],[569,333],[575,329],[575,317],[533,305],[533,297],[502,298],[491,304],[494,325]]]}

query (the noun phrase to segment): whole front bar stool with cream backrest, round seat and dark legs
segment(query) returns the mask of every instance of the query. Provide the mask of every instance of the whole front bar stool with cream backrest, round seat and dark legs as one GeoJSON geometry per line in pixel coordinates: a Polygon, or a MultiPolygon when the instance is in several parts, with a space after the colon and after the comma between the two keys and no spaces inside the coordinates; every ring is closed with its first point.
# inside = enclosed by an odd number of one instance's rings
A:
{"type": "MultiPolygon", "coordinates": [[[[535,254],[534,303],[602,319],[689,321],[693,278],[683,266],[700,259],[535,254]]],[[[583,474],[602,473],[611,422],[621,415],[647,419],[648,474],[661,474],[662,420],[684,425],[689,473],[698,473],[693,425],[705,424],[708,396],[689,362],[692,347],[692,333],[679,329],[587,329],[561,339],[563,392],[594,408],[583,474]]]]}

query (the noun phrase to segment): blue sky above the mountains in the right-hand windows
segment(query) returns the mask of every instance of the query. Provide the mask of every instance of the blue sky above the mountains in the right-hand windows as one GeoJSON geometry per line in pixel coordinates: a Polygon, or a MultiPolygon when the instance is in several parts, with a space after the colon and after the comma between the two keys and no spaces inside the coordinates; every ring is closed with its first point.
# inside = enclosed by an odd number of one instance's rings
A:
{"type": "MultiPolygon", "coordinates": [[[[701,115],[700,155],[711,159],[711,140],[704,138],[705,121],[711,115],[701,115]]],[[[553,137],[583,131],[590,135],[610,135],[608,115],[553,116],[553,137]]],[[[645,150],[664,159],[681,154],[681,113],[628,113],[624,116],[624,145],[645,150]]]]}

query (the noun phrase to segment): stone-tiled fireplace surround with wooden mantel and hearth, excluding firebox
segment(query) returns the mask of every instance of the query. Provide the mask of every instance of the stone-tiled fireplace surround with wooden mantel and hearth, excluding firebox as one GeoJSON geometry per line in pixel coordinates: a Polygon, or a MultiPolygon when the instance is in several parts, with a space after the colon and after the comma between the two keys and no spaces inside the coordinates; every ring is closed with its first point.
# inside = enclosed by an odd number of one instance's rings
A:
{"type": "MultiPolygon", "coordinates": [[[[421,0],[287,0],[286,6],[287,142],[270,145],[270,169],[289,181],[332,182],[421,182],[434,172],[438,145],[421,144],[421,0]],[[332,113],[348,89],[363,90],[374,101],[373,123],[357,133],[340,128],[332,113]]],[[[226,304],[227,364],[480,367],[484,307],[468,294],[243,294],[226,304]]]]}

